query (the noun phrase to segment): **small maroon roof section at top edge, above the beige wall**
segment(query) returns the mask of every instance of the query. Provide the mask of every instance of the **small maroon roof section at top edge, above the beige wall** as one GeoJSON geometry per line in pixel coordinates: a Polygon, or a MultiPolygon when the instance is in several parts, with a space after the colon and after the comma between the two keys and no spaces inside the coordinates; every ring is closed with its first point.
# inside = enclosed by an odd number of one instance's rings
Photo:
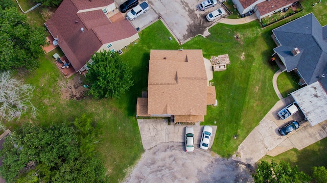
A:
{"type": "Polygon", "coordinates": [[[78,10],[85,10],[85,9],[90,9],[90,8],[98,8],[98,7],[105,7],[108,6],[113,2],[113,0],[71,0],[74,4],[74,6],[78,10]]]}

